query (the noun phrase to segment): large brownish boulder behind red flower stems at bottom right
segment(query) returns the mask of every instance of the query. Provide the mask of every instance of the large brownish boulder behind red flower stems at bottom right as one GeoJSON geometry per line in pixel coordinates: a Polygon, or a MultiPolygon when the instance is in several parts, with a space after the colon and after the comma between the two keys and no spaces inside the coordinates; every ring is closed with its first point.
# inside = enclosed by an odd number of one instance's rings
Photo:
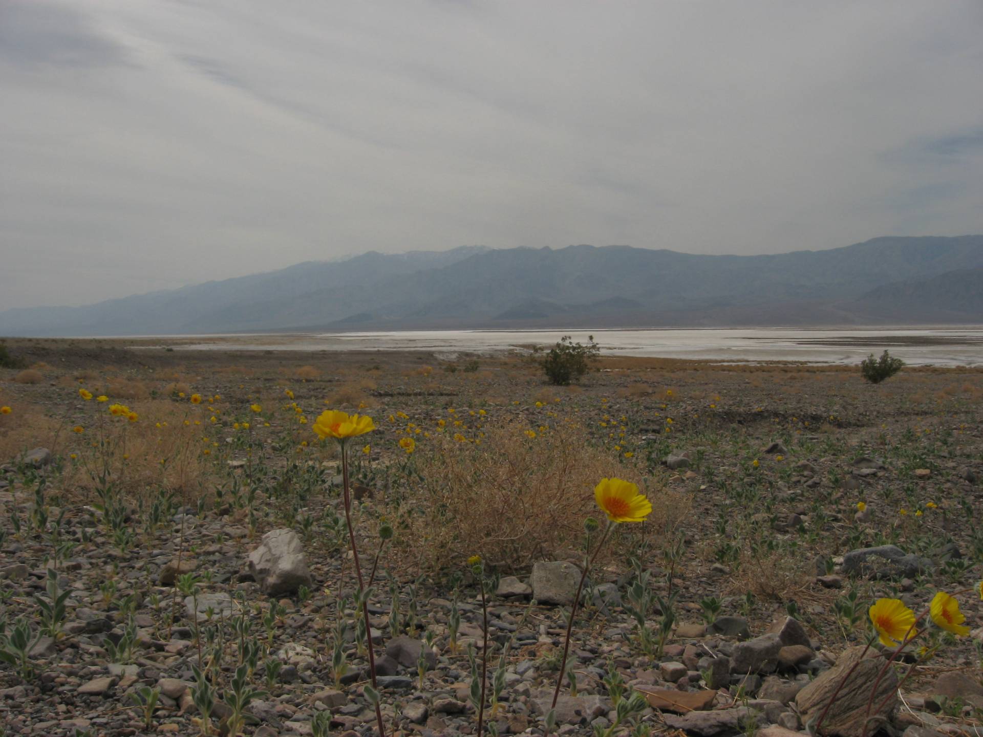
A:
{"type": "MultiPolygon", "coordinates": [[[[839,737],[861,737],[864,732],[864,714],[871,689],[881,672],[882,658],[865,657],[860,660],[863,648],[851,648],[843,652],[837,664],[821,673],[816,680],[803,688],[795,697],[795,706],[802,721],[806,724],[817,718],[833,694],[839,688],[840,681],[856,665],[846,683],[839,691],[837,701],[830,707],[820,727],[820,734],[838,735],[839,737]]],[[[877,655],[877,652],[869,652],[877,655]]],[[[894,668],[888,668],[878,685],[874,696],[871,717],[875,720],[870,724],[870,732],[876,732],[879,725],[890,719],[897,705],[897,675],[894,668]],[[877,709],[881,703],[885,705],[877,709]]]]}

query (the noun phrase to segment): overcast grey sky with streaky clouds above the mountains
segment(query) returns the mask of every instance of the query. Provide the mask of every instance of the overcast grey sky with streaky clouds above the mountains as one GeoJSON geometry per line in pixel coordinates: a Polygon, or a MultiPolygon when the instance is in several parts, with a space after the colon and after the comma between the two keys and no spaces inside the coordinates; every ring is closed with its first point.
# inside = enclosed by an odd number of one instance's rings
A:
{"type": "Polygon", "coordinates": [[[980,232],[979,0],[0,0],[0,309],[980,232]]]}

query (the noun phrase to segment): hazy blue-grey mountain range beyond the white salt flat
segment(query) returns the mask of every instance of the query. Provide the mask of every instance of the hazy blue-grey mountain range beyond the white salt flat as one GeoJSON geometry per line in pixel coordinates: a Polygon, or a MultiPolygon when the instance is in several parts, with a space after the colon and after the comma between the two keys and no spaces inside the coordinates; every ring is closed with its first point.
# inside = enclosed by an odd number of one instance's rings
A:
{"type": "Polygon", "coordinates": [[[0,312],[2,335],[983,322],[983,236],[691,255],[627,246],[370,253],[0,312]]]}

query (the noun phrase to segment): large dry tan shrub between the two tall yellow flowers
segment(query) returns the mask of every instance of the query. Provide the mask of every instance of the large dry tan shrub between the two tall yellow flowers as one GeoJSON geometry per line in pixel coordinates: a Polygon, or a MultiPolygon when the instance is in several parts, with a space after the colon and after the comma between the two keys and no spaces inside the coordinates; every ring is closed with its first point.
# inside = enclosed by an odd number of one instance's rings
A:
{"type": "Polygon", "coordinates": [[[487,427],[481,444],[458,442],[451,432],[418,444],[422,482],[405,503],[407,534],[397,534],[413,566],[436,571],[478,553],[515,571],[564,556],[582,540],[585,518],[600,514],[594,486],[606,477],[647,482],[651,535],[689,507],[679,493],[666,503],[670,492],[657,480],[592,445],[582,426],[560,423],[534,439],[526,429],[507,422],[487,427]]]}

